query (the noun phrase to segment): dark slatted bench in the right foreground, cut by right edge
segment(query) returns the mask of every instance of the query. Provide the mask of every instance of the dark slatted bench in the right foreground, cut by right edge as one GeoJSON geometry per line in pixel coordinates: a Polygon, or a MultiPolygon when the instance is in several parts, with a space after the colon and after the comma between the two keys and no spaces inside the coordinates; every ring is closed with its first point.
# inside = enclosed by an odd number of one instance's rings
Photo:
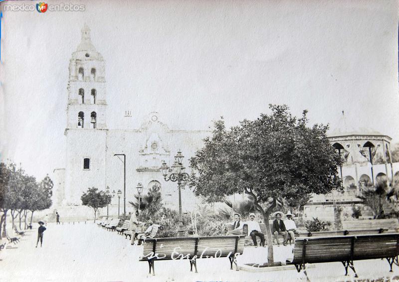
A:
{"type": "Polygon", "coordinates": [[[341,262],[345,275],[349,267],[358,277],[353,261],[387,259],[392,272],[393,264],[399,266],[399,233],[298,238],[293,253],[290,264],[302,270],[308,281],[306,264],[341,262]]]}

